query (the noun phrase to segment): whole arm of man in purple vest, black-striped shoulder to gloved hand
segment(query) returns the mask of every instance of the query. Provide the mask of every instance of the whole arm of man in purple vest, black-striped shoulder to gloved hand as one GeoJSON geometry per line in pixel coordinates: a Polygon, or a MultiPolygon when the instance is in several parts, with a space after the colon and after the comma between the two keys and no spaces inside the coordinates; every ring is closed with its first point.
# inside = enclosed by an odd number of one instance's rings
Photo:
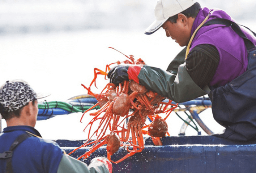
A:
{"type": "Polygon", "coordinates": [[[210,90],[207,84],[212,80],[218,66],[218,60],[215,59],[215,56],[218,56],[218,51],[214,46],[203,45],[201,47],[199,45],[196,47],[191,50],[186,62],[179,65],[183,62],[185,51],[183,49],[175,57],[176,60],[169,65],[167,70],[170,73],[147,65],[119,65],[110,70],[108,78],[115,85],[132,79],[176,103],[193,100],[209,94],[210,90]],[[196,47],[199,48],[195,49],[196,47]],[[213,49],[200,51],[207,47],[213,49]],[[179,65],[178,68],[177,65],[179,65]]]}

